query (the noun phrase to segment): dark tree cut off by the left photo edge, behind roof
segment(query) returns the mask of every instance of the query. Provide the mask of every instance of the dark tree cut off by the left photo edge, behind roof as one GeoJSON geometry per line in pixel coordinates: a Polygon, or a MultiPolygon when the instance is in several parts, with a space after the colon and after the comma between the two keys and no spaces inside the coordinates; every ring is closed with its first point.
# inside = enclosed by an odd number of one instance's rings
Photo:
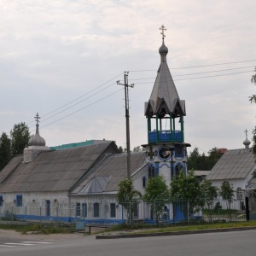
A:
{"type": "Polygon", "coordinates": [[[5,132],[0,137],[0,171],[9,163],[11,160],[11,148],[10,139],[5,132]]]}

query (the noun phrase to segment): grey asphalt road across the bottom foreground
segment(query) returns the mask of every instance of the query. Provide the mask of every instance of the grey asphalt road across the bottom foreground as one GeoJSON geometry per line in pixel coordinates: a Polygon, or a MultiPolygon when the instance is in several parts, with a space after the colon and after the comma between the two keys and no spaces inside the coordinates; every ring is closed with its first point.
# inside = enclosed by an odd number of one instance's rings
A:
{"type": "MultiPolygon", "coordinates": [[[[9,237],[11,240],[11,237],[9,237]]],[[[22,239],[21,239],[22,240],[22,239]]],[[[21,241],[20,240],[20,241],[21,241]]],[[[27,240],[27,237],[26,237],[27,240]]],[[[5,240],[6,241],[6,240],[5,240]]],[[[1,244],[0,239],[0,244],[1,244]]],[[[170,255],[256,255],[256,230],[96,240],[95,236],[79,236],[46,244],[0,247],[0,255],[8,256],[170,256],[170,255]]]]}

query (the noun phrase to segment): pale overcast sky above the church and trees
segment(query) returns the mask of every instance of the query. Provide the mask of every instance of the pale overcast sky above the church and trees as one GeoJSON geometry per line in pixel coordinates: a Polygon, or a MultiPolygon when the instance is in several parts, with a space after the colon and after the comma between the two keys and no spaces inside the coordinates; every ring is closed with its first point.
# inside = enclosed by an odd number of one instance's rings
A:
{"type": "Polygon", "coordinates": [[[116,81],[130,71],[131,148],[147,143],[144,102],[164,24],[189,151],[243,148],[244,131],[251,140],[256,124],[248,101],[255,7],[255,0],[1,0],[0,132],[24,121],[33,134],[39,113],[48,146],[105,138],[125,147],[124,88],[116,81]]]}

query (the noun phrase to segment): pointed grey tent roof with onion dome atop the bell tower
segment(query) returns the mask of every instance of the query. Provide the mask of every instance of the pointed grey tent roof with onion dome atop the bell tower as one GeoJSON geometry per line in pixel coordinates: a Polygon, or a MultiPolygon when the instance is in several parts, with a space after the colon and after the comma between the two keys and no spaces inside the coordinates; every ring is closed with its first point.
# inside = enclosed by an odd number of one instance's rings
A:
{"type": "Polygon", "coordinates": [[[152,116],[159,113],[162,105],[165,106],[166,113],[185,115],[185,101],[179,99],[176,86],[166,62],[168,49],[165,45],[164,38],[159,52],[161,57],[160,67],[151,96],[148,102],[145,103],[145,115],[152,116]]]}

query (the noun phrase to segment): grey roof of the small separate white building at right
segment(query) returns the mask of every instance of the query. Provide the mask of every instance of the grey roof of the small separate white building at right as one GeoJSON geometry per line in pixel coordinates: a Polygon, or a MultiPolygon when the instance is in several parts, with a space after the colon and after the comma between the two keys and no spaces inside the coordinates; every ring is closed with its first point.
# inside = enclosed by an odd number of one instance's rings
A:
{"type": "Polygon", "coordinates": [[[209,180],[245,178],[255,168],[255,159],[250,149],[227,150],[207,175],[209,180]]]}

